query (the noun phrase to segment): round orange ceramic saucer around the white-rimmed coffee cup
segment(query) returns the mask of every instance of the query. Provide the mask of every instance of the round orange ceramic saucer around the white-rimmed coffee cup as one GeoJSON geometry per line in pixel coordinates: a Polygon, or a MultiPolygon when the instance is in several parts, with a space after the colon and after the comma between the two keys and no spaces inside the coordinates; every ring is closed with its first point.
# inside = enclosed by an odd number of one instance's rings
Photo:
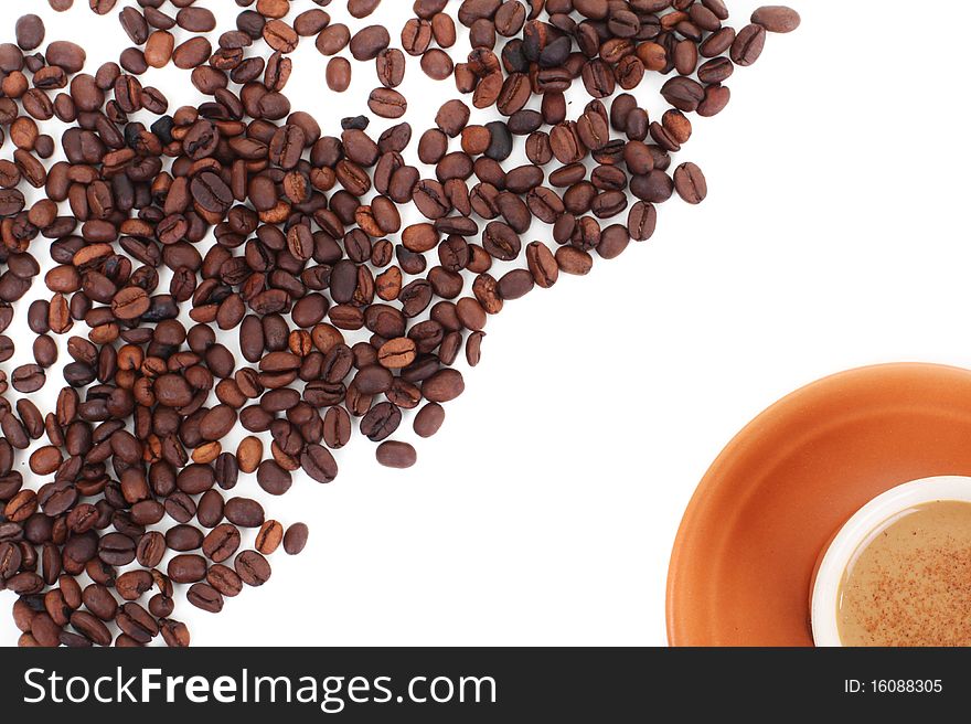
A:
{"type": "Polygon", "coordinates": [[[887,364],[779,401],[702,480],[668,574],[672,646],[812,646],[823,547],[901,482],[971,475],[971,371],[887,364]]]}

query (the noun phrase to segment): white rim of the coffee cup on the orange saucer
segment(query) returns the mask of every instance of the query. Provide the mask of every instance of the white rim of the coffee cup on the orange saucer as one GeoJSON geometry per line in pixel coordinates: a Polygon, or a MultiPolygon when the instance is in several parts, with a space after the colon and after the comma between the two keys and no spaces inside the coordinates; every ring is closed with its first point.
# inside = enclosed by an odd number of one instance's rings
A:
{"type": "Polygon", "coordinates": [[[971,477],[937,476],[905,482],[871,500],[843,524],[823,555],[812,587],[812,638],[817,646],[843,646],[837,617],[840,584],[867,536],[907,509],[938,501],[971,502],[971,477]]]}

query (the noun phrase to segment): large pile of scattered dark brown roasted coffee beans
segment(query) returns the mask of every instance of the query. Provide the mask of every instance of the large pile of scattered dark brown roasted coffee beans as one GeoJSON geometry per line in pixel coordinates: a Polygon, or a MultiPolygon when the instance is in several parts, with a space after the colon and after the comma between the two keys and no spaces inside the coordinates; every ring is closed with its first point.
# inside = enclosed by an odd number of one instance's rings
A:
{"type": "MultiPolygon", "coordinates": [[[[363,20],[378,2],[342,4],[363,20]]],[[[292,18],[289,0],[236,0],[233,29],[201,1],[119,4],[131,46],[93,74],[38,15],[0,45],[0,140],[14,147],[0,160],[0,362],[35,257],[54,264],[26,310],[34,362],[0,372],[0,395],[21,393],[0,396],[0,589],[18,595],[23,646],[185,646],[178,585],[218,611],[266,583],[266,556],[307,542],[236,494],[241,473],[273,496],[297,470],[331,482],[355,423],[382,465],[414,465],[396,430],[408,411],[418,436],[439,429],[490,316],[649,239],[673,194],[705,199],[696,164],[672,170],[690,114],[723,110],[735,67],[799,24],[766,7],[736,31],[722,0],[415,0],[394,32],[332,23],[331,0],[292,18]],[[456,62],[459,26],[471,52],[456,62]],[[284,93],[302,39],[334,92],[375,68],[340,136],[284,93]],[[408,123],[367,132],[371,116],[406,114],[408,56],[455,83],[419,164],[408,123]],[[139,79],[169,64],[207,100],[172,107],[139,79]],[[654,73],[670,108],[652,119],[631,92],[654,73]],[[570,117],[576,89],[588,103],[570,117]],[[55,118],[65,129],[42,132],[55,118]],[[57,147],[65,160],[46,163],[57,147]],[[504,166],[516,147],[529,163],[504,166]],[[71,361],[42,412],[26,395],[57,338],[71,361]],[[224,449],[237,425],[250,435],[224,449]]]]}

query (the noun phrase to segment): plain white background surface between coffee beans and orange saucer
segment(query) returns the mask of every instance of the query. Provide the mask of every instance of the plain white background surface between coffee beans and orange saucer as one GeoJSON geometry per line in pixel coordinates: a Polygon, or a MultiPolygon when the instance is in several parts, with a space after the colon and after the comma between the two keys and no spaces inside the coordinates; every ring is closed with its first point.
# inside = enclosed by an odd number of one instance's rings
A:
{"type": "MultiPolygon", "coordinates": [[[[86,4],[53,18],[49,39],[87,45],[94,72],[126,43],[115,13],[86,4]]],[[[205,4],[232,24],[228,0],[205,4]]],[[[730,4],[740,28],[758,3],[730,4]]],[[[182,604],[194,643],[663,645],[679,521],[745,423],[843,369],[971,363],[963,47],[916,40],[910,2],[800,4],[802,28],[769,36],[677,157],[702,166],[708,200],[672,200],[651,242],[490,320],[481,365],[413,469],[382,469],[355,439],[335,482],[300,478],[270,501],[273,517],[310,524],[306,552],[274,555],[270,583],[220,616],[182,604]]],[[[971,6],[947,4],[949,26],[971,23],[971,6]]],[[[410,2],[383,6],[396,44],[410,2]]],[[[34,7],[53,15],[42,0],[2,3],[7,38],[34,7]]],[[[366,111],[370,63],[343,96],[311,41],[295,65],[287,94],[324,132],[366,111]]],[[[149,78],[173,109],[196,97],[179,72],[149,78]]],[[[642,96],[653,117],[655,87],[642,96]]],[[[417,141],[452,88],[409,58],[405,89],[417,141]]],[[[236,492],[254,489],[249,477],[236,492]]],[[[8,621],[2,643],[17,639],[8,621]]]]}

